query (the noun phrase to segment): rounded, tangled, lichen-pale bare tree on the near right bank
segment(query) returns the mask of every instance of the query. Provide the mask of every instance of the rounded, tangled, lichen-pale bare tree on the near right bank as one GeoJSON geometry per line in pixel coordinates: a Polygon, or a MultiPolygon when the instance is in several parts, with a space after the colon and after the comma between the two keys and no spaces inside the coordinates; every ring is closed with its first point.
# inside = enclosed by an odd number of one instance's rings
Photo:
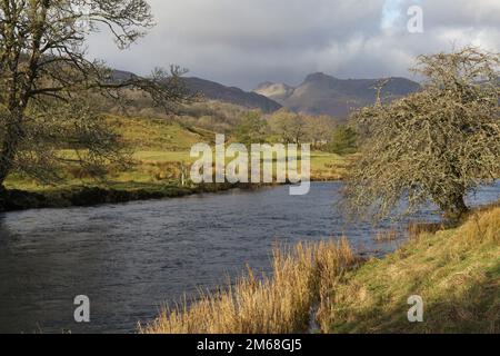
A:
{"type": "Polygon", "coordinates": [[[420,56],[422,90],[353,116],[362,140],[346,196],[354,212],[388,216],[433,201],[448,218],[468,211],[466,195],[500,175],[498,53],[464,48],[420,56]]]}

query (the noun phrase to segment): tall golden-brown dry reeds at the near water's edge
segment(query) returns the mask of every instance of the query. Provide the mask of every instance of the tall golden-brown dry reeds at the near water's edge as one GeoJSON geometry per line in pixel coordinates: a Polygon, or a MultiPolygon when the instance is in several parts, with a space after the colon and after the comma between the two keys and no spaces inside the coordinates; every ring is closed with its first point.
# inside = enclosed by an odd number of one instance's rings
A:
{"type": "Polygon", "coordinates": [[[248,274],[190,306],[164,308],[144,334],[289,334],[308,330],[313,306],[357,263],[348,241],[274,248],[272,274],[248,274]]]}

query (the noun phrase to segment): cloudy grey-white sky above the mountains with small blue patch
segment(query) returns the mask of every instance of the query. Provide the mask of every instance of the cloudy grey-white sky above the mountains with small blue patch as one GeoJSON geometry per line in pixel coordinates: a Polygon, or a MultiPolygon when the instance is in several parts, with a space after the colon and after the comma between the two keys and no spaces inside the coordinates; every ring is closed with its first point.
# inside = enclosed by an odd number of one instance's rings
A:
{"type": "Polygon", "coordinates": [[[500,51],[500,0],[150,0],[157,27],[120,51],[106,33],[89,55],[146,75],[171,63],[224,85],[410,77],[414,56],[476,44],[500,51]],[[411,6],[423,33],[408,31],[411,6]]]}

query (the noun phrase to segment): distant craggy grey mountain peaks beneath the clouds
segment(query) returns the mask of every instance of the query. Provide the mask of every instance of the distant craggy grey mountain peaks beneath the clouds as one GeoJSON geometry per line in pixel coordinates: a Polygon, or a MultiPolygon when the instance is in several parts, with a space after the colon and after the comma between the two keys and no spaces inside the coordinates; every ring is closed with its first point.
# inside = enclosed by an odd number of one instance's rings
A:
{"type": "MultiPolygon", "coordinates": [[[[318,72],[309,75],[297,88],[266,82],[254,91],[293,111],[346,118],[353,109],[376,102],[379,82],[380,79],[338,79],[318,72]]],[[[420,85],[409,79],[389,78],[381,97],[390,101],[419,89],[420,85]]]]}

